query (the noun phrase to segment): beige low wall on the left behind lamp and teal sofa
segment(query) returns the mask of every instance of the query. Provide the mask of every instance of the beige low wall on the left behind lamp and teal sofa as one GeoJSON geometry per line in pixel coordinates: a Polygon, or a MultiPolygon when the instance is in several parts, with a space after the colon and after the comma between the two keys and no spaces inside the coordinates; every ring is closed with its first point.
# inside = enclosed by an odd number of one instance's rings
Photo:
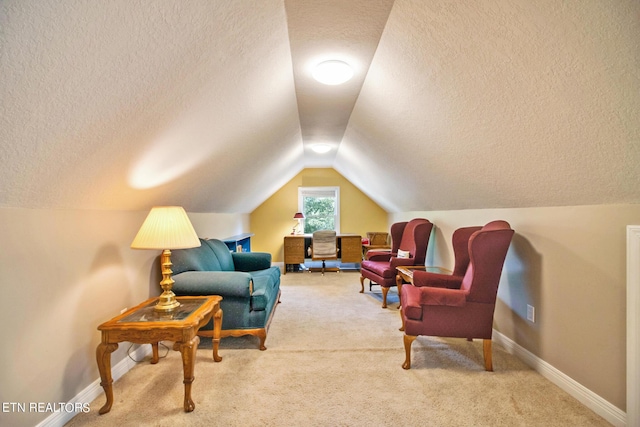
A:
{"type": "MultiPolygon", "coordinates": [[[[97,326],[159,294],[159,252],[129,247],[146,215],[0,209],[0,401],[67,402],[99,378],[97,326]]],[[[248,215],[189,216],[204,237],[248,225],[248,215]]],[[[113,353],[112,366],[128,347],[113,353]]],[[[33,426],[49,415],[0,413],[0,425],[33,426]]]]}

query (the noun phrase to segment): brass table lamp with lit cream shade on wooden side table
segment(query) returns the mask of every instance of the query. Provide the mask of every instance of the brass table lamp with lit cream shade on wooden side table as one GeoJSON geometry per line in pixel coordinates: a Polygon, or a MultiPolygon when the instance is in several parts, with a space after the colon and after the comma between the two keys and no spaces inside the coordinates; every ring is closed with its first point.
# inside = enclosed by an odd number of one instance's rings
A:
{"type": "Polygon", "coordinates": [[[171,277],[171,249],[186,249],[200,246],[200,239],[193,229],[187,213],[181,206],[156,206],[151,208],[149,215],[142,223],[131,248],[160,249],[160,267],[162,281],[160,287],[163,292],[155,306],[156,311],[167,312],[179,307],[173,293],[174,280],[171,277]]]}

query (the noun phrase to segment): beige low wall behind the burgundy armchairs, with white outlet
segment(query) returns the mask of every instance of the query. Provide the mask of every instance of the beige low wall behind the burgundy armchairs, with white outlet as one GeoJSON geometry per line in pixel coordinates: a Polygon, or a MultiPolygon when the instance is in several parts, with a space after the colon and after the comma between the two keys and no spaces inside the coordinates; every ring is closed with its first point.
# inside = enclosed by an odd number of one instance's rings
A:
{"type": "Polygon", "coordinates": [[[391,220],[418,216],[436,225],[427,263],[449,268],[456,228],[509,221],[516,233],[495,328],[625,410],[626,226],[640,223],[640,205],[405,212],[391,220]],[[526,320],[527,304],[535,323],[526,320]]]}

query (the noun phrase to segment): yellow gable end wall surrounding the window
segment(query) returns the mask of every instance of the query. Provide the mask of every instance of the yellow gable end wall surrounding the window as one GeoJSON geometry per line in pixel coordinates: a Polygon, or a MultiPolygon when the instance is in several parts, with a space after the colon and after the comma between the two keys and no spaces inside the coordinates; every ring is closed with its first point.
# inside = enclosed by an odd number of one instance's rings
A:
{"type": "Polygon", "coordinates": [[[340,187],[340,231],[366,236],[368,231],[388,231],[388,215],[362,191],[331,168],[310,168],[282,186],[250,216],[253,251],[269,252],[274,262],[284,261],[283,238],[295,225],[298,187],[340,187]]]}

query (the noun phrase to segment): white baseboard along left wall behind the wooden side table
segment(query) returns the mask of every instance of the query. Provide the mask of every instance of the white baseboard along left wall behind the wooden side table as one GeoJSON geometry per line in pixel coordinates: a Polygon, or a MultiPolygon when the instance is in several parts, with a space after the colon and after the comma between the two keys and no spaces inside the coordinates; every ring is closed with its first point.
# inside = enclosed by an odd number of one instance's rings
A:
{"type": "MultiPolygon", "coordinates": [[[[140,345],[137,349],[131,352],[131,357],[135,360],[142,360],[146,356],[151,354],[151,346],[150,345],[140,345]]],[[[126,374],[131,368],[136,365],[130,357],[125,357],[120,362],[118,362],[115,366],[111,368],[111,376],[113,381],[118,381],[120,377],[126,374]]],[[[98,396],[104,394],[104,389],[100,385],[100,378],[92,382],[88,387],[74,396],[67,403],[72,404],[84,404],[93,402],[98,396]]],[[[77,412],[54,412],[50,416],[48,416],[44,421],[37,424],[36,427],[62,427],[66,423],[69,422],[73,417],[77,415],[77,412]]]]}

